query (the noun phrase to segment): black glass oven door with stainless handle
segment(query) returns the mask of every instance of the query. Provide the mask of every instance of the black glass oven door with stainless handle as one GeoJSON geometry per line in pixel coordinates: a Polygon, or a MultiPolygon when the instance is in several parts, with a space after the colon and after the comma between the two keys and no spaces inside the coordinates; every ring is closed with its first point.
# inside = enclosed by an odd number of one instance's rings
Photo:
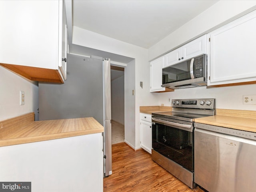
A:
{"type": "Polygon", "coordinates": [[[192,122],[154,117],[152,118],[152,148],[193,172],[193,131],[192,122]]]}

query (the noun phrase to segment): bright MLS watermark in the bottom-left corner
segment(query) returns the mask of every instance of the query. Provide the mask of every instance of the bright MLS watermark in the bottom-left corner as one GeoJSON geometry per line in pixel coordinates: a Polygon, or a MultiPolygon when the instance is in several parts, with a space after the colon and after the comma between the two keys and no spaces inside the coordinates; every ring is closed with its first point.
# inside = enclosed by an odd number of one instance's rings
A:
{"type": "Polygon", "coordinates": [[[31,182],[0,182],[0,192],[31,192],[31,182]]]}

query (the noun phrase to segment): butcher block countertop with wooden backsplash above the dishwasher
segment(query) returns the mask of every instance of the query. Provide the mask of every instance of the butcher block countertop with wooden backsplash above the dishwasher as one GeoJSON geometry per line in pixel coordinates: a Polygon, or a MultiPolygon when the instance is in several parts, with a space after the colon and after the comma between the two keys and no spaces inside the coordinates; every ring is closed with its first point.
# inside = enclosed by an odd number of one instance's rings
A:
{"type": "Polygon", "coordinates": [[[216,109],[216,115],[196,118],[195,122],[256,132],[256,111],[216,109]]]}

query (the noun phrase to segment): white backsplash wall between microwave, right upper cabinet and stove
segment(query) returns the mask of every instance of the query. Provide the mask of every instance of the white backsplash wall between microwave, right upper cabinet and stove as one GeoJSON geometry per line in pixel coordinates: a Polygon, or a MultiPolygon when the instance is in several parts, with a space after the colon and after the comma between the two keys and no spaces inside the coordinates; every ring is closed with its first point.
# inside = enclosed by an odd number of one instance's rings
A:
{"type": "Polygon", "coordinates": [[[228,87],[196,87],[175,90],[174,92],[152,93],[158,95],[158,104],[171,106],[169,98],[215,98],[216,108],[235,110],[256,110],[256,105],[243,104],[243,95],[255,95],[256,84],[228,87]]]}

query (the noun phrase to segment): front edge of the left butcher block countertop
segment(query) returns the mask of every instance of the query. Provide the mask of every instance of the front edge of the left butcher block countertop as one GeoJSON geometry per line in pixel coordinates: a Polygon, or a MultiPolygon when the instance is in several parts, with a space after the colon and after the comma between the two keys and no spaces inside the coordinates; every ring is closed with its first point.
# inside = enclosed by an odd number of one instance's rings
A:
{"type": "Polygon", "coordinates": [[[80,130],[80,131],[48,134],[48,135],[39,135],[39,136],[30,136],[30,137],[24,137],[24,138],[4,139],[4,140],[0,140],[0,147],[40,142],[40,141],[47,141],[47,140],[53,140],[53,139],[68,138],[68,137],[81,136],[81,135],[94,134],[94,133],[102,133],[102,132],[104,132],[104,128],[96,128],[96,129],[92,129],[92,130],[80,130]]]}

